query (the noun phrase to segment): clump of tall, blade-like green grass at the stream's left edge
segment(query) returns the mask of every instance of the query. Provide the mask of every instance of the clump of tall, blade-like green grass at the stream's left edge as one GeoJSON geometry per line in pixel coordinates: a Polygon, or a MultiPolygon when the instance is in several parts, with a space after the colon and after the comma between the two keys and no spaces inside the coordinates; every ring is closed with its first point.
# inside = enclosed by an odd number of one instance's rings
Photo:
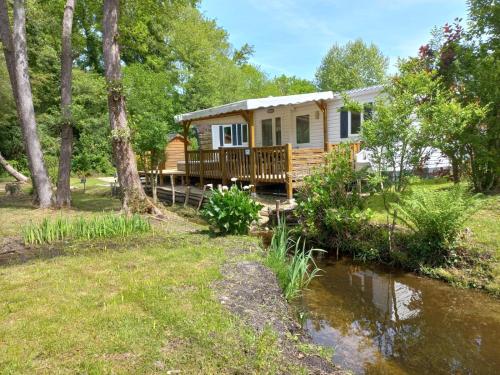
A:
{"type": "Polygon", "coordinates": [[[321,271],[314,262],[314,254],[323,251],[307,250],[305,240],[293,240],[284,221],[275,228],[266,265],[276,273],[288,301],[298,297],[321,271]]]}

